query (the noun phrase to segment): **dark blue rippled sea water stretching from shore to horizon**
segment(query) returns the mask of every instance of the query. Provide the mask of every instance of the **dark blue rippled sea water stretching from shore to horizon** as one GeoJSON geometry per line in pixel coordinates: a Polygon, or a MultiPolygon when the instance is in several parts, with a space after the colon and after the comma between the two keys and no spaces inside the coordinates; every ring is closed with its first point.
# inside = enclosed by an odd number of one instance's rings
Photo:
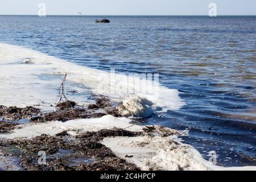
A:
{"type": "Polygon", "coordinates": [[[191,129],[186,143],[221,166],[256,166],[256,16],[0,16],[0,42],[80,65],[159,73],[187,105],[144,119],[191,129]]]}

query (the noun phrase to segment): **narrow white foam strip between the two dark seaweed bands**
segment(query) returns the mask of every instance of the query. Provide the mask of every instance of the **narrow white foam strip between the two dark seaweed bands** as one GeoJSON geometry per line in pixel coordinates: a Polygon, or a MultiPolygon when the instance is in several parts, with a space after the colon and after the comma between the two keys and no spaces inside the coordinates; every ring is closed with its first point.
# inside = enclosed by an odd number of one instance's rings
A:
{"type": "Polygon", "coordinates": [[[29,123],[19,125],[19,128],[11,133],[0,134],[0,139],[33,138],[41,134],[55,135],[65,130],[68,130],[69,134],[75,135],[82,131],[98,131],[113,129],[113,127],[127,127],[126,130],[129,131],[141,131],[141,126],[131,126],[129,122],[130,119],[128,118],[115,118],[112,115],[106,115],[102,118],[74,119],[66,122],[29,123]]]}

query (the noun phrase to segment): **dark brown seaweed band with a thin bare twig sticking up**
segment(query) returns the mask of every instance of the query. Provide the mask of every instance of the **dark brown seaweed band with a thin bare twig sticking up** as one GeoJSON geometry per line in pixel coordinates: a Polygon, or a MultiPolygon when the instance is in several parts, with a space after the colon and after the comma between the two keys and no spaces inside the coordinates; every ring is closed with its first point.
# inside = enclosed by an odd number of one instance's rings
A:
{"type": "MultiPolygon", "coordinates": [[[[0,119],[15,121],[19,119],[26,118],[31,122],[48,122],[48,121],[68,121],[71,119],[79,118],[101,118],[106,114],[113,115],[114,117],[129,117],[129,116],[141,116],[136,115],[132,111],[137,110],[132,107],[130,108],[129,104],[123,102],[114,102],[106,96],[96,96],[93,95],[95,104],[88,105],[87,108],[79,106],[76,102],[68,100],[65,95],[65,81],[67,74],[65,74],[63,81],[61,82],[59,88],[59,102],[55,106],[55,110],[51,112],[42,112],[40,109],[37,109],[32,106],[27,106],[24,108],[19,108],[15,106],[0,106],[0,119]],[[122,108],[122,109],[120,109],[122,108]],[[99,111],[96,111],[99,110],[99,111]],[[126,112],[124,112],[124,110],[126,112]],[[128,110],[128,111],[127,111],[128,110]]],[[[130,102],[129,102],[130,103],[130,102]]],[[[139,105],[141,106],[141,105],[139,105]]],[[[144,106],[142,107],[142,112],[144,112],[144,106]]],[[[13,128],[13,127],[11,127],[13,128]]],[[[3,130],[5,131],[5,130],[3,130]]]]}

